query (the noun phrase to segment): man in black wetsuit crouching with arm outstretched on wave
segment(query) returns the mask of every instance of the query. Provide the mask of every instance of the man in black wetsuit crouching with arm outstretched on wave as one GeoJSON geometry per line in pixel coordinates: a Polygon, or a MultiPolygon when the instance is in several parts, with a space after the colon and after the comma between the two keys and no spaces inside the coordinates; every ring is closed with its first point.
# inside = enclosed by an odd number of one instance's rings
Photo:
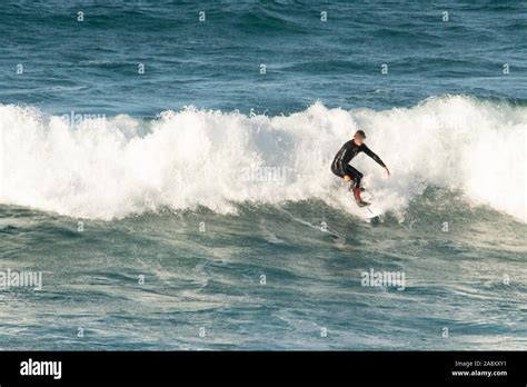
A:
{"type": "Polygon", "coordinates": [[[341,177],[345,182],[351,181],[349,190],[354,191],[355,200],[360,207],[367,206],[368,202],[362,201],[360,198],[360,179],[362,179],[362,173],[351,167],[349,161],[356,157],[359,152],[365,152],[371,157],[379,166],[385,168],[386,173],[390,176],[388,167],[382,162],[380,157],[374,153],[364,142],[366,139],[366,133],[364,130],[357,130],[354,138],[346,142],[342,148],[335,156],[334,162],[331,162],[331,171],[341,177]]]}

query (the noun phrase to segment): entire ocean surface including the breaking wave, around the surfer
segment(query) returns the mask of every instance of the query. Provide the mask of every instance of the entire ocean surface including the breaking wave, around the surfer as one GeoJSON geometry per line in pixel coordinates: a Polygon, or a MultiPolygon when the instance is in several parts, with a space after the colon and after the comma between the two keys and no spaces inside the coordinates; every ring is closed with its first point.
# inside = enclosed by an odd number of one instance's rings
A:
{"type": "Polygon", "coordinates": [[[527,2],[4,1],[0,30],[1,349],[527,349],[527,2]],[[376,221],[329,170],[359,128],[376,221]]]}

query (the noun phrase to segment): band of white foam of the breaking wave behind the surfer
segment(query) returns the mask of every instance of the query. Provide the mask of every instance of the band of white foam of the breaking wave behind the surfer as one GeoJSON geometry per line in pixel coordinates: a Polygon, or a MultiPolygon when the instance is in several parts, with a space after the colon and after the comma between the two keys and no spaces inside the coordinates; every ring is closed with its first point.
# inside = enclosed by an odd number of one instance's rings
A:
{"type": "Polygon", "coordinates": [[[386,111],[316,103],[266,117],[187,108],[151,122],[121,115],[71,126],[34,108],[0,106],[0,202],[73,217],[199,205],[225,214],[245,200],[309,198],[355,211],[329,166],[361,128],[392,171],[386,179],[366,156],[354,160],[384,209],[404,214],[432,183],[527,220],[525,107],[446,96],[386,111]]]}

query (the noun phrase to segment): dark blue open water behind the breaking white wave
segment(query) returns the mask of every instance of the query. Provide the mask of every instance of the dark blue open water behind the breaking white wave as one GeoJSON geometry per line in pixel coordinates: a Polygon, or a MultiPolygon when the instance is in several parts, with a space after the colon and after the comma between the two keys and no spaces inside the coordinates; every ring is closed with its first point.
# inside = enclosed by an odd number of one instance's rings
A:
{"type": "Polygon", "coordinates": [[[276,115],[317,100],[388,109],[444,93],[524,101],[526,14],[525,1],[6,1],[0,98],[136,116],[187,105],[276,115]]]}

